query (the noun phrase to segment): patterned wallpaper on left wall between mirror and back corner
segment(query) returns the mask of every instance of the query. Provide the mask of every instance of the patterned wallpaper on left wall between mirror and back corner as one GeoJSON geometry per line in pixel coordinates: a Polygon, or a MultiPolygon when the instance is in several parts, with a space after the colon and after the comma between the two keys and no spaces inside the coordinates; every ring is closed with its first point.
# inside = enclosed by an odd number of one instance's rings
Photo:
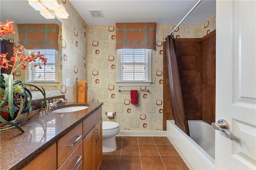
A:
{"type": "Polygon", "coordinates": [[[76,102],[78,83],[86,80],[87,74],[87,25],[68,0],[64,6],[69,16],[62,19],[62,89],[68,102],[76,102]],[[66,87],[66,79],[70,87],[66,87]]]}

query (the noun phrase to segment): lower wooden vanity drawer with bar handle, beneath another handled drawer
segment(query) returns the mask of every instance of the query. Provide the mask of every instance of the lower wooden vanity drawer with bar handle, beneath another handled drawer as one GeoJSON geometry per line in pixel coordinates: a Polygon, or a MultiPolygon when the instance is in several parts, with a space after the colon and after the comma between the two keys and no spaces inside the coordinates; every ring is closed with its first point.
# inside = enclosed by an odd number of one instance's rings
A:
{"type": "MultiPolygon", "coordinates": [[[[62,164],[59,170],[72,170],[78,169],[80,163],[83,160],[83,142],[77,146],[77,148],[70,154],[67,160],[62,164]]],[[[80,167],[81,168],[81,167],[80,167]]]]}

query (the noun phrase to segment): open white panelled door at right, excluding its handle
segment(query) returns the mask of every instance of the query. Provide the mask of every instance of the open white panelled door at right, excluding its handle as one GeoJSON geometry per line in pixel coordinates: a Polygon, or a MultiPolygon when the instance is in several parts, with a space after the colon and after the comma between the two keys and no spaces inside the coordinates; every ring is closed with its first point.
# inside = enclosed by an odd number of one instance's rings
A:
{"type": "Polygon", "coordinates": [[[256,169],[256,0],[216,0],[215,169],[256,169]]]}

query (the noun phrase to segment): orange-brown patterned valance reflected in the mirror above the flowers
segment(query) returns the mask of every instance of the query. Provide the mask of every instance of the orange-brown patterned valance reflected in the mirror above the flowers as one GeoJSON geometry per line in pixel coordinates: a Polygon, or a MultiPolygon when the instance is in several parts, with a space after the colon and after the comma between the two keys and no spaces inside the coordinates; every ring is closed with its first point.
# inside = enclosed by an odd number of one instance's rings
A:
{"type": "Polygon", "coordinates": [[[18,24],[19,41],[26,49],[56,49],[58,24],[18,24]]]}

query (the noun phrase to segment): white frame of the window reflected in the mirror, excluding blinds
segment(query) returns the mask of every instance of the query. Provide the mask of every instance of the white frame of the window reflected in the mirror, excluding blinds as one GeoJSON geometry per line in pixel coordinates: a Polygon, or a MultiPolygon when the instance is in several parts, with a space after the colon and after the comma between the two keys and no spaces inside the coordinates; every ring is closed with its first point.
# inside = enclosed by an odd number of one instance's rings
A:
{"type": "MultiPolygon", "coordinates": [[[[31,51],[30,49],[27,49],[28,51],[31,51]]],[[[43,50],[47,50],[47,49],[37,49],[37,50],[34,50],[34,51],[43,51],[43,50]]],[[[49,49],[50,50],[50,49],[49,49]]],[[[29,63],[27,63],[27,69],[26,69],[26,74],[25,74],[25,81],[26,82],[30,82],[30,83],[36,83],[36,84],[39,84],[41,86],[57,86],[59,81],[58,81],[58,74],[59,74],[59,69],[58,69],[58,51],[55,49],[55,81],[30,81],[29,79],[29,76],[30,76],[30,70],[29,70],[29,63]]],[[[46,56],[47,58],[47,56],[46,56]]],[[[44,65],[41,65],[42,67],[44,65]]],[[[47,63],[46,63],[46,66],[47,66],[47,63]]],[[[37,66],[38,67],[38,66],[37,66]]]]}

